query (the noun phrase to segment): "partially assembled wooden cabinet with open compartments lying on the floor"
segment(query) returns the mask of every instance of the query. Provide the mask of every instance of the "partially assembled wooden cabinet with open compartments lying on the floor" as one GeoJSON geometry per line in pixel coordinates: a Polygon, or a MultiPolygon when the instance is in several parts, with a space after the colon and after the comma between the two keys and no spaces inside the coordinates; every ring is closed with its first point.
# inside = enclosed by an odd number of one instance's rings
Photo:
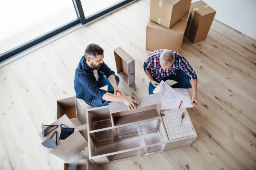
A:
{"type": "Polygon", "coordinates": [[[166,110],[166,118],[176,117],[172,123],[168,119],[163,121],[165,118],[161,116],[162,99],[159,94],[134,99],[140,103],[137,110],[129,111],[122,102],[87,109],[89,159],[95,164],[108,164],[186,147],[197,137],[186,109],[182,110],[186,113],[182,126],[178,128],[176,124],[180,126],[182,112],[179,109],[175,112],[166,110]]]}

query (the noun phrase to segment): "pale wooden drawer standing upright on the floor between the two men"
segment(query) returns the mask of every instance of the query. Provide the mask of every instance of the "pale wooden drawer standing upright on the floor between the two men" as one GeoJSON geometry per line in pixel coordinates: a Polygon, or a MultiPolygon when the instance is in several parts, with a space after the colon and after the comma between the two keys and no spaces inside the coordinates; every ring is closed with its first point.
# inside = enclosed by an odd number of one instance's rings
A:
{"type": "Polygon", "coordinates": [[[131,86],[135,83],[134,59],[121,47],[114,50],[116,70],[120,77],[131,86]]]}

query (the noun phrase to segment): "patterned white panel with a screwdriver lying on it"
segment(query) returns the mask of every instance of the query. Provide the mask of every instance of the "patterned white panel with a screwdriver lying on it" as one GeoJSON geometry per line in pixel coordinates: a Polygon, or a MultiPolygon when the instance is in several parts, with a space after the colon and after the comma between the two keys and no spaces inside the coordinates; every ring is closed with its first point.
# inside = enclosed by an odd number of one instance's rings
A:
{"type": "Polygon", "coordinates": [[[162,119],[169,140],[192,136],[195,134],[194,130],[192,130],[192,126],[190,125],[186,108],[161,110],[161,114],[165,114],[165,116],[162,116],[162,119]],[[185,114],[180,127],[182,112],[185,114]]]}

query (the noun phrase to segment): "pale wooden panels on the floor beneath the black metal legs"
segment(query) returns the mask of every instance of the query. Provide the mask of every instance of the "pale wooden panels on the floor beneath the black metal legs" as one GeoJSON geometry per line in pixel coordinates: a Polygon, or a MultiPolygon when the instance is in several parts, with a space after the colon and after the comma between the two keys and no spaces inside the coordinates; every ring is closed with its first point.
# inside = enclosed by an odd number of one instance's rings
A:
{"type": "MultiPolygon", "coordinates": [[[[57,148],[47,148],[52,154],[55,156],[58,156],[60,159],[63,159],[64,161],[70,161],[75,157],[77,154],[79,154],[85,147],[88,146],[88,142],[84,139],[84,137],[81,135],[79,130],[76,128],[75,125],[70,121],[70,119],[67,117],[67,115],[63,115],[61,118],[53,122],[51,125],[59,125],[55,130],[50,132],[55,127],[47,127],[45,129],[46,136],[42,136],[42,132],[38,133],[42,141],[44,142],[47,138],[51,137],[52,134],[57,131],[57,148]],[[67,137],[65,140],[60,140],[60,134],[61,134],[61,124],[70,127],[75,128],[74,133],[67,137]]],[[[54,143],[56,142],[56,135],[52,136],[51,139],[54,143]]],[[[43,146],[42,146],[43,147],[43,146]]]]}

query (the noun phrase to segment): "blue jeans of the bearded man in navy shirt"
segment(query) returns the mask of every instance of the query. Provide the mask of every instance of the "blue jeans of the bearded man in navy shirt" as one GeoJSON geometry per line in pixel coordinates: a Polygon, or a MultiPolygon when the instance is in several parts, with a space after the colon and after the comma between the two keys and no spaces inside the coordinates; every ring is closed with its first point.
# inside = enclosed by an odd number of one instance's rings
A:
{"type": "MultiPolygon", "coordinates": [[[[115,78],[116,78],[116,84],[118,85],[119,84],[119,77],[115,75],[115,78]]],[[[107,79],[107,77],[103,73],[99,76],[99,79],[97,81],[97,85],[99,86],[99,88],[102,88],[102,87],[108,85],[108,93],[112,93],[112,94],[115,93],[113,86],[111,85],[110,81],[107,79]]],[[[98,108],[98,107],[101,107],[101,106],[107,106],[108,103],[110,103],[110,102],[105,101],[104,103],[102,103],[102,99],[97,99],[96,97],[94,97],[92,102],[91,102],[91,105],[98,108]]]]}

